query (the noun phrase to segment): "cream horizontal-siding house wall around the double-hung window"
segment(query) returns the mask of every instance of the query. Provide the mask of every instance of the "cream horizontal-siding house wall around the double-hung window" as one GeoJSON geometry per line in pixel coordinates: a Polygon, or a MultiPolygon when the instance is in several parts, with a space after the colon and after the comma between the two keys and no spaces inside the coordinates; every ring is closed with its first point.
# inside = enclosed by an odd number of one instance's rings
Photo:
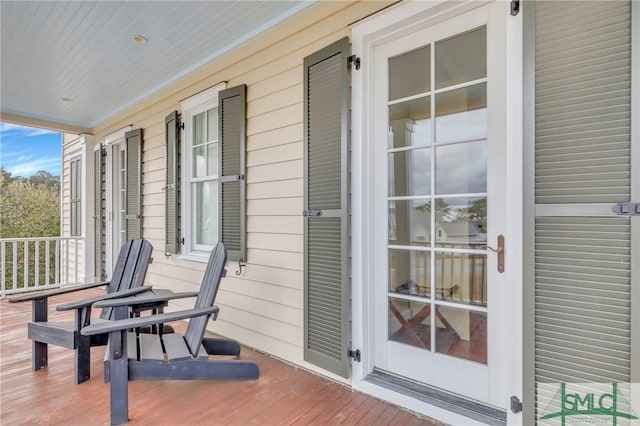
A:
{"type": "Polygon", "coordinates": [[[155,249],[147,283],[197,290],[205,264],[163,255],[164,118],[221,81],[247,85],[247,266],[236,276],[229,262],[211,329],[315,370],[303,361],[303,59],[387,5],[321,3],[95,129],[97,142],[126,125],[143,129],[142,234],[155,249]]]}

